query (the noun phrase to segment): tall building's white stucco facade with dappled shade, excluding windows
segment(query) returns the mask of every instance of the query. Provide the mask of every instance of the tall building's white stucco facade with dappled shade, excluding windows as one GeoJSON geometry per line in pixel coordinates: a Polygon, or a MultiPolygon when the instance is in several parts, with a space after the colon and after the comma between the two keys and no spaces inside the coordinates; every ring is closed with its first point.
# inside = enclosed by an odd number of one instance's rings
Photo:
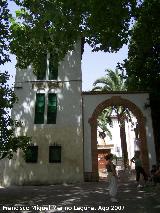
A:
{"type": "Polygon", "coordinates": [[[19,98],[12,110],[12,117],[23,122],[17,135],[32,136],[32,143],[38,145],[38,162],[26,163],[23,153],[18,151],[12,160],[6,160],[3,185],[52,184],[79,182],[83,180],[83,132],[82,132],[82,76],[81,44],[69,52],[60,63],[57,88],[49,84],[56,81],[40,81],[37,89],[36,76],[32,69],[17,70],[15,93],[19,98]],[[48,92],[57,94],[56,124],[34,124],[37,92],[46,95],[45,121],[48,92]],[[62,146],[61,163],[49,163],[49,145],[62,146]]]}

